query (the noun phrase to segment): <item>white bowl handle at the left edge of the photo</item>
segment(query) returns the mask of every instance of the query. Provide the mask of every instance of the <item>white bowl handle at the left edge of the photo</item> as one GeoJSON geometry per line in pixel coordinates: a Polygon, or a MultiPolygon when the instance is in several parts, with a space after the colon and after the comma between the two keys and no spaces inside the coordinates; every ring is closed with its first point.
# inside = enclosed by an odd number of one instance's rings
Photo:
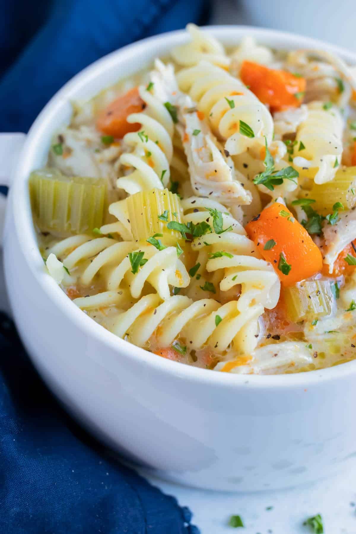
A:
{"type": "MultiPolygon", "coordinates": [[[[25,133],[0,133],[0,185],[10,185],[13,170],[25,138],[25,133]]],[[[6,197],[0,194],[0,248],[3,238],[5,207],[6,197]]]]}

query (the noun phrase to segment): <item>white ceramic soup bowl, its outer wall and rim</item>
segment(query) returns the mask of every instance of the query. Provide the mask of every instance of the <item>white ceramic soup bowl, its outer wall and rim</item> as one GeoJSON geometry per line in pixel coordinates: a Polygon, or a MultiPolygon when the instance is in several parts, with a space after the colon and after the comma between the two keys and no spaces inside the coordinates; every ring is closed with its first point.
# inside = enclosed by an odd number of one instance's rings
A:
{"type": "MultiPolygon", "coordinates": [[[[356,63],[345,50],[275,30],[208,31],[225,44],[249,34],[274,48],[322,47],[356,63]]],[[[5,224],[14,318],[35,366],[70,413],[149,472],[238,491],[314,481],[347,467],[356,454],[356,362],[276,376],[171,362],[94,323],[56,285],[38,252],[27,179],[44,164],[53,130],[69,121],[69,100],[95,95],[186,40],[184,32],[173,32],[109,54],[75,76],[38,116],[13,172],[5,224]]]]}

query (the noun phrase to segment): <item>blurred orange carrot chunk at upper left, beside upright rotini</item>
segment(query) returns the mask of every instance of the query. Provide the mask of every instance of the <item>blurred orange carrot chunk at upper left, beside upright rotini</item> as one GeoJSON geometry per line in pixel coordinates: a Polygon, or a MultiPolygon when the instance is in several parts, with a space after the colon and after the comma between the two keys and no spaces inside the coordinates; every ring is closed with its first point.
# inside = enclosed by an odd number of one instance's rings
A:
{"type": "Polygon", "coordinates": [[[98,130],[122,139],[125,133],[136,132],[140,124],[130,124],[126,121],[131,113],[139,113],[145,108],[145,103],[138,93],[138,88],[130,89],[124,95],[111,102],[98,116],[98,130]]]}

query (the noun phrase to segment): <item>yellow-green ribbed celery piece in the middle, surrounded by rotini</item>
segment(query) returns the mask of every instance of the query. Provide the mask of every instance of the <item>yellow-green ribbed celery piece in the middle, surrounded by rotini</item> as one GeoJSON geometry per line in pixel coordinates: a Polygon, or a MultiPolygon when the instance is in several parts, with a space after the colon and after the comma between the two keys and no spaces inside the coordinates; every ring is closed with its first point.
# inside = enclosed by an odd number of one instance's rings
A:
{"type": "Polygon", "coordinates": [[[163,234],[164,245],[181,241],[179,232],[167,228],[170,221],[181,223],[182,209],[176,194],[168,189],[153,189],[135,193],[126,202],[135,241],[145,241],[156,233],[163,234]]]}

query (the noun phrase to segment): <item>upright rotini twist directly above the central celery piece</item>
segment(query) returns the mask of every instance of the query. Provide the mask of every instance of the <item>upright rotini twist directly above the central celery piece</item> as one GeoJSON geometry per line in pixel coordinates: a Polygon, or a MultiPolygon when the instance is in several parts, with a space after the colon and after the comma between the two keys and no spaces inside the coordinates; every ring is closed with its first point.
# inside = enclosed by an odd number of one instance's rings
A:
{"type": "Polygon", "coordinates": [[[139,94],[146,108],[141,113],[131,113],[127,121],[139,123],[141,127],[138,132],[126,133],[124,143],[133,147],[133,152],[120,156],[122,165],[135,170],[116,181],[118,189],[124,189],[129,194],[164,189],[169,182],[169,165],[173,156],[172,117],[162,102],[143,85],[139,94]]]}

